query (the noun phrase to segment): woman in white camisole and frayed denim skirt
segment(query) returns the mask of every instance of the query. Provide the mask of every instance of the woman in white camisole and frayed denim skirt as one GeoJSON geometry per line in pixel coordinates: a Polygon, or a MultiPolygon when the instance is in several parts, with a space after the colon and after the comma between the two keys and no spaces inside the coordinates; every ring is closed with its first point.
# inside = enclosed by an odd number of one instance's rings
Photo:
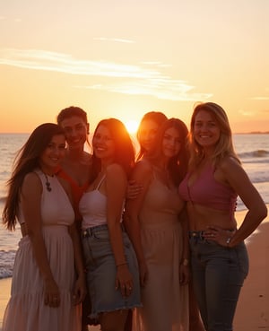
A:
{"type": "Polygon", "coordinates": [[[134,146],[122,122],[108,118],[92,147],[91,185],[79,205],[91,318],[99,318],[102,331],[121,331],[128,310],[141,306],[137,260],[122,226],[134,146]]]}

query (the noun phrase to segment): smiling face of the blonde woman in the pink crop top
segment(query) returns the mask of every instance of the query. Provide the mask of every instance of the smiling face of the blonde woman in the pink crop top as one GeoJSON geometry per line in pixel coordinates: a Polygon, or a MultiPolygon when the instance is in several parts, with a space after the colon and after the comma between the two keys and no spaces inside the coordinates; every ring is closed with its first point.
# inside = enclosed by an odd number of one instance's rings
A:
{"type": "Polygon", "coordinates": [[[204,150],[214,149],[221,136],[221,129],[210,112],[200,110],[195,116],[194,138],[204,150]]]}

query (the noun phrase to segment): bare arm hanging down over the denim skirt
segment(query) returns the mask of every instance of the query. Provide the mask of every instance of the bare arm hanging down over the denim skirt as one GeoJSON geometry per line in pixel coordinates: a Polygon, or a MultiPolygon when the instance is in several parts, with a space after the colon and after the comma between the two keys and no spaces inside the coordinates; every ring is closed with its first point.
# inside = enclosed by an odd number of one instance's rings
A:
{"type": "Polygon", "coordinates": [[[126,187],[127,179],[124,170],[117,164],[108,166],[106,176],[108,231],[117,266],[116,288],[120,288],[123,296],[130,294],[133,288],[133,277],[126,261],[120,224],[126,199],[126,187]]]}

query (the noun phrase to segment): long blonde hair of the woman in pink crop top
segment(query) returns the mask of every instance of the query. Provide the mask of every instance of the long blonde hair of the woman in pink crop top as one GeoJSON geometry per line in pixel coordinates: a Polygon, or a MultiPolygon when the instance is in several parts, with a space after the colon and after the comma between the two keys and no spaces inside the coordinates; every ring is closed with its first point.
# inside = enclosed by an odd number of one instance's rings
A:
{"type": "Polygon", "coordinates": [[[195,118],[199,111],[204,110],[208,112],[216,125],[221,130],[220,139],[215,146],[215,150],[212,155],[213,165],[216,165],[225,156],[231,156],[239,161],[239,158],[234,150],[232,143],[232,133],[230,129],[229,119],[224,109],[216,103],[204,102],[199,103],[195,106],[189,133],[189,149],[190,149],[190,161],[189,170],[194,170],[195,167],[204,159],[204,148],[198,144],[195,140],[195,118]]]}

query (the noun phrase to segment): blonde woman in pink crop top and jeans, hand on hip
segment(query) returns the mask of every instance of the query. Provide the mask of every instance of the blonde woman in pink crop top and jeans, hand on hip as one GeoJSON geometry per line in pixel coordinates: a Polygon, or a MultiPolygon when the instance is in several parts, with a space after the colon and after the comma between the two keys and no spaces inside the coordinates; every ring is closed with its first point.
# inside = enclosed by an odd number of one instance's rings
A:
{"type": "Polygon", "coordinates": [[[187,201],[195,295],[206,331],[231,331],[248,271],[244,240],[267,210],[234,151],[221,106],[196,105],[189,146],[189,169],[179,193],[187,201]],[[248,209],[239,229],[234,217],[237,196],[248,209]]]}

